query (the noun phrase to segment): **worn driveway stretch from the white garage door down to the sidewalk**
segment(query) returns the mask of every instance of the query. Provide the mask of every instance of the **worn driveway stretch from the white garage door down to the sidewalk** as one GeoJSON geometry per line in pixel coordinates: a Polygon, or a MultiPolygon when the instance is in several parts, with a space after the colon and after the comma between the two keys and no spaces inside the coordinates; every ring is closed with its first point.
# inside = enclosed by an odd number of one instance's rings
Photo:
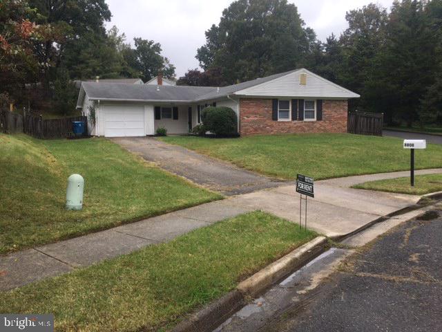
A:
{"type": "Polygon", "coordinates": [[[230,163],[202,156],[183,147],[155,140],[155,138],[127,137],[112,138],[112,140],[169,172],[227,196],[255,192],[284,184],[280,180],[240,169],[230,163]]]}

